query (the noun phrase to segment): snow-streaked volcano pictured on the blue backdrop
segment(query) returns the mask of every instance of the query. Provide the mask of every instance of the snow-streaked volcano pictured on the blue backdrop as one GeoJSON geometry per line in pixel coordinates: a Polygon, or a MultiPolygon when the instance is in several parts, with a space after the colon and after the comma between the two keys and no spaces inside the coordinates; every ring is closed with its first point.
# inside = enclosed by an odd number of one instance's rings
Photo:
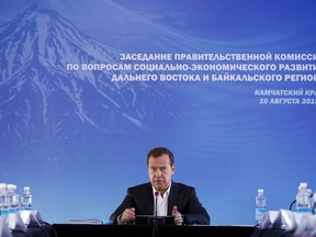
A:
{"type": "Polygon", "coordinates": [[[50,139],[91,128],[142,129],[157,116],[177,114],[168,104],[172,93],[167,84],[115,83],[111,71],[67,70],[74,63],[120,64],[120,53],[52,10],[30,8],[0,29],[0,38],[2,137],[50,139]]]}

